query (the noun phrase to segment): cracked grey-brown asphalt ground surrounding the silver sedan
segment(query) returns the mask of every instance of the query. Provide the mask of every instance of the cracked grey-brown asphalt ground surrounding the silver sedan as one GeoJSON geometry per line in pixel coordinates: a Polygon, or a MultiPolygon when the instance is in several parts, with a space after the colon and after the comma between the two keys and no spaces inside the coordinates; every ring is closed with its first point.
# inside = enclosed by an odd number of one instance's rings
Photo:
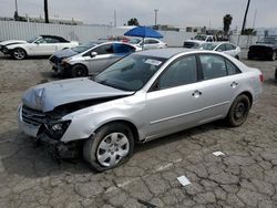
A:
{"type": "Polygon", "coordinates": [[[59,165],[18,129],[23,91],[55,79],[48,60],[0,56],[0,207],[277,207],[277,61],[242,61],[265,75],[243,126],[215,122],[138,145],[129,163],[98,174],[82,158],[59,165]]]}

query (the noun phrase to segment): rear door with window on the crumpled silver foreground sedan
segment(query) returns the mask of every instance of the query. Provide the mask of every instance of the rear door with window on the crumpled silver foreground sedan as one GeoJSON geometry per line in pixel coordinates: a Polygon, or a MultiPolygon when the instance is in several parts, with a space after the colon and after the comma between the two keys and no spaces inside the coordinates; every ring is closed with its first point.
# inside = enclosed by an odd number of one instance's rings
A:
{"type": "Polygon", "coordinates": [[[198,87],[202,93],[199,123],[206,123],[226,116],[240,86],[240,71],[222,55],[201,54],[198,58],[203,76],[198,87]]]}

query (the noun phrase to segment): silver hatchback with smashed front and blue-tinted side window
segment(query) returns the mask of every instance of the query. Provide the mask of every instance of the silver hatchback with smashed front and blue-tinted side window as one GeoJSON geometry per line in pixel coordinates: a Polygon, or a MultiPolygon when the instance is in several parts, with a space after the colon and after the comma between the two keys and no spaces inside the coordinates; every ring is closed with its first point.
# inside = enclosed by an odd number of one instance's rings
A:
{"type": "Polygon", "coordinates": [[[66,54],[59,52],[49,61],[53,70],[63,76],[88,76],[102,72],[105,67],[122,59],[123,56],[140,51],[141,48],[123,42],[91,42],[88,45],[71,49],[66,54]],[[72,55],[72,52],[76,54],[72,55]],[[80,53],[79,53],[80,52],[80,53]]]}

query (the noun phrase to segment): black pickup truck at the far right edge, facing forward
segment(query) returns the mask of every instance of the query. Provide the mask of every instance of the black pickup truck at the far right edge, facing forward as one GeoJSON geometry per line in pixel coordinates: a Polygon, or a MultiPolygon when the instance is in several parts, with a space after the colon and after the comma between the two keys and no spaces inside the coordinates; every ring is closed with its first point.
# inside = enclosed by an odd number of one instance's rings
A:
{"type": "Polygon", "coordinates": [[[255,58],[269,61],[277,60],[277,37],[265,37],[249,46],[248,60],[255,58]]]}

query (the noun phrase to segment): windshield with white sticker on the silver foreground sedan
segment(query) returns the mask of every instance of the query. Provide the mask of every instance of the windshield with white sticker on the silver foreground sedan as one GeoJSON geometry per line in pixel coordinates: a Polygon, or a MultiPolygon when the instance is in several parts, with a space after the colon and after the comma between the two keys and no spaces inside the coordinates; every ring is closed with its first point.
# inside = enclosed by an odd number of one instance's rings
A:
{"type": "Polygon", "coordinates": [[[100,73],[94,81],[123,91],[138,91],[166,59],[131,54],[100,73]]]}

